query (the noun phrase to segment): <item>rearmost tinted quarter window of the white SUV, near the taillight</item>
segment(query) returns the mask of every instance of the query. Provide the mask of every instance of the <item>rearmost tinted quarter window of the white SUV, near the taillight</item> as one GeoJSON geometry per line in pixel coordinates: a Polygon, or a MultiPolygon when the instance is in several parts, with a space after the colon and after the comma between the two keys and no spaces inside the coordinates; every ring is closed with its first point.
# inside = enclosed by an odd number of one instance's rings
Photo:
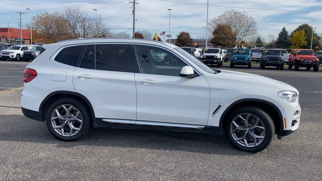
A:
{"type": "Polygon", "coordinates": [[[83,47],[84,45],[66,47],[56,55],[55,61],[71,66],[76,66],[83,47]]]}

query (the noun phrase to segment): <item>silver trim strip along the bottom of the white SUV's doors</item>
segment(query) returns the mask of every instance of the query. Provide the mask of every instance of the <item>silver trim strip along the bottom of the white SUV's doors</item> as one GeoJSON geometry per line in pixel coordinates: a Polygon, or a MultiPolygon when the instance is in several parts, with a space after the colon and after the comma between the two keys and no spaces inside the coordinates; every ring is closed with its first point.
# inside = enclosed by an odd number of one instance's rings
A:
{"type": "Polygon", "coordinates": [[[151,122],[151,121],[134,121],[134,120],[116,120],[116,119],[102,119],[106,123],[116,124],[133,124],[133,125],[147,125],[147,126],[165,126],[165,127],[178,127],[178,128],[194,128],[203,129],[205,126],[190,125],[190,124],[177,124],[177,123],[163,123],[163,122],[151,122]]]}

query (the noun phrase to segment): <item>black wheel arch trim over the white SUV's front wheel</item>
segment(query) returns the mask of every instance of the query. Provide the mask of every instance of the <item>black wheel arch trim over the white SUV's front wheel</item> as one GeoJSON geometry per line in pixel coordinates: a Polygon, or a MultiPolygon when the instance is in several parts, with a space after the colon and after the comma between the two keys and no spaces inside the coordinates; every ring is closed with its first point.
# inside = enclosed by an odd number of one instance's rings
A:
{"type": "Polygon", "coordinates": [[[219,120],[219,127],[220,130],[224,130],[224,121],[226,117],[231,113],[233,110],[239,108],[239,107],[245,107],[245,106],[256,106],[264,109],[267,111],[270,116],[272,117],[272,120],[274,122],[275,126],[275,133],[279,134],[280,130],[283,129],[283,116],[281,111],[278,109],[276,105],[269,101],[260,100],[260,99],[241,99],[238,101],[235,101],[231,105],[229,105],[226,110],[222,113],[220,120],[219,120]]]}

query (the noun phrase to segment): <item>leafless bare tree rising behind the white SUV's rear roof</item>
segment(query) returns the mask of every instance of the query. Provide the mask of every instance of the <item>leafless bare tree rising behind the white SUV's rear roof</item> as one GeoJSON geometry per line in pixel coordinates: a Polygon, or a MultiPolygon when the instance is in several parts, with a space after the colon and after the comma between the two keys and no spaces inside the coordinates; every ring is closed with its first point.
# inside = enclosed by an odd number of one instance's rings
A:
{"type": "Polygon", "coordinates": [[[63,17],[73,38],[106,37],[108,34],[108,28],[102,18],[92,18],[83,9],[68,7],[63,17]]]}

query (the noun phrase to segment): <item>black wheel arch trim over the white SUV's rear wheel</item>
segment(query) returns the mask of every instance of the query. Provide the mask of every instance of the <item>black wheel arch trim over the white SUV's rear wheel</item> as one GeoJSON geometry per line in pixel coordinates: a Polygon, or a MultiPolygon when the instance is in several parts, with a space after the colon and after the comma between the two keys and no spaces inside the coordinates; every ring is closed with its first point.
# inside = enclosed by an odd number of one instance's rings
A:
{"type": "Polygon", "coordinates": [[[90,103],[90,101],[84,95],[79,94],[79,93],[75,93],[75,92],[71,92],[71,91],[56,91],[56,92],[50,93],[48,96],[46,96],[46,98],[41,102],[41,104],[39,106],[39,112],[42,113],[41,114],[42,121],[45,120],[46,111],[49,107],[49,104],[54,102],[57,99],[66,98],[66,96],[68,96],[68,98],[73,98],[73,99],[83,102],[84,105],[87,106],[88,109],[90,110],[90,114],[91,114],[90,116],[92,117],[93,123],[95,123],[95,113],[94,113],[94,109],[93,109],[93,106],[90,103]]]}

